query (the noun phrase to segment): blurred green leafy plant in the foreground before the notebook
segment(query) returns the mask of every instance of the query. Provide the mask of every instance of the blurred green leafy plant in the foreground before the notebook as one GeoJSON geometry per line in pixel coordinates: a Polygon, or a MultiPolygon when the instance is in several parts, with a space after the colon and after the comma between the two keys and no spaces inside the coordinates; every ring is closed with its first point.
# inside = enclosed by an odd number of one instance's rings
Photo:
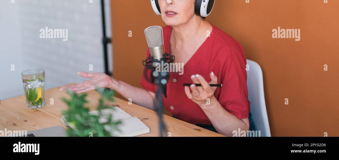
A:
{"type": "Polygon", "coordinates": [[[67,129],[68,137],[111,137],[114,136],[111,134],[113,131],[119,131],[118,126],[121,124],[121,121],[112,121],[112,115],[108,116],[107,122],[103,123],[99,120],[100,115],[102,115],[102,109],[114,109],[112,106],[104,104],[106,100],[114,101],[114,91],[107,88],[97,88],[97,91],[101,94],[97,106],[98,115],[89,114],[89,108],[85,106],[87,103],[86,93],[75,94],[74,92],[67,91],[71,98],[68,100],[62,98],[62,101],[68,105],[68,110],[63,111],[63,115],[67,115],[66,120],[77,128],[69,127],[67,129]]]}

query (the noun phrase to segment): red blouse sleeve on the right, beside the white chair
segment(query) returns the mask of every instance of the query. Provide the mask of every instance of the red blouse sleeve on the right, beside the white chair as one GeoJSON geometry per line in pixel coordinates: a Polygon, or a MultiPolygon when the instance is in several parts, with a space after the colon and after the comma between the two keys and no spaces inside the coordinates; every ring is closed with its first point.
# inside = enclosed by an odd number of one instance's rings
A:
{"type": "Polygon", "coordinates": [[[229,50],[221,74],[219,103],[238,119],[247,118],[250,107],[247,92],[246,58],[242,50],[229,50]]]}

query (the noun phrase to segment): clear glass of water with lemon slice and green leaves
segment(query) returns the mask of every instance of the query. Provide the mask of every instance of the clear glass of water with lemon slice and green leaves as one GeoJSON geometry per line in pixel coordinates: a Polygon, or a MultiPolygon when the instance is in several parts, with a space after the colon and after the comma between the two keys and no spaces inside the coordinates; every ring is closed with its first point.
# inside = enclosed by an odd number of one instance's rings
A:
{"type": "Polygon", "coordinates": [[[31,69],[21,73],[23,90],[28,108],[41,108],[45,105],[45,71],[31,69]]]}

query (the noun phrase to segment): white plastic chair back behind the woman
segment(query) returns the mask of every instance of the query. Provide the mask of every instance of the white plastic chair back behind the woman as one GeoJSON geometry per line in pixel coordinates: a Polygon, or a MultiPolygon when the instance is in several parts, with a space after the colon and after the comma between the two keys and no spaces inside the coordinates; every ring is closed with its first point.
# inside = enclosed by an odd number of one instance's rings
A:
{"type": "Polygon", "coordinates": [[[271,137],[270,125],[265,104],[264,83],[260,65],[247,59],[249,71],[247,71],[248,100],[251,102],[251,114],[261,137],[271,137]]]}

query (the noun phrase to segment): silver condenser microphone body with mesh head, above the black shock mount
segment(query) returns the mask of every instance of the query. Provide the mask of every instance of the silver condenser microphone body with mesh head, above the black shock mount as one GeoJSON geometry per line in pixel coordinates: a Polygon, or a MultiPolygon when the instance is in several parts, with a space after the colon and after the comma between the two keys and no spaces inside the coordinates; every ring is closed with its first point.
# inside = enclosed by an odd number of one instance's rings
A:
{"type": "Polygon", "coordinates": [[[148,44],[149,55],[156,60],[165,56],[164,39],[162,27],[150,26],[145,29],[145,36],[148,44]]]}

